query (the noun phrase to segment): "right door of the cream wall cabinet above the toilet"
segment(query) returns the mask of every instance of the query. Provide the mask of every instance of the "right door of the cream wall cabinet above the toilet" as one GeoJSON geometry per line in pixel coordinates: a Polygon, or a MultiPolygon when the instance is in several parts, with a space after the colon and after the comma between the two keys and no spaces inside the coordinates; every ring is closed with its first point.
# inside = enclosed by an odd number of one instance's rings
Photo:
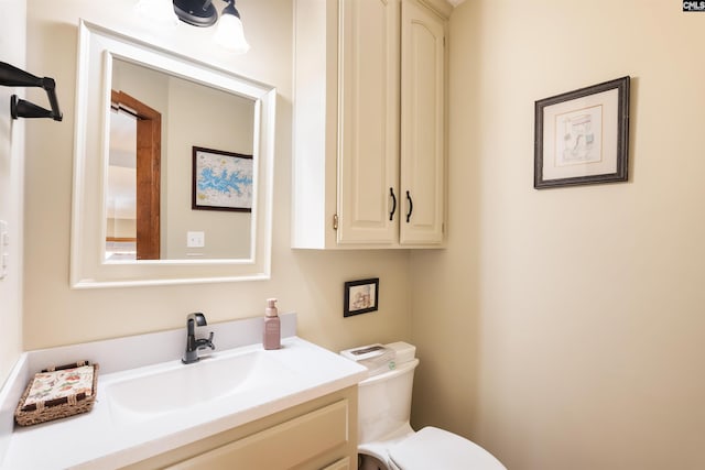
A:
{"type": "Polygon", "coordinates": [[[400,243],[443,242],[445,22],[416,0],[401,13],[400,243]]]}

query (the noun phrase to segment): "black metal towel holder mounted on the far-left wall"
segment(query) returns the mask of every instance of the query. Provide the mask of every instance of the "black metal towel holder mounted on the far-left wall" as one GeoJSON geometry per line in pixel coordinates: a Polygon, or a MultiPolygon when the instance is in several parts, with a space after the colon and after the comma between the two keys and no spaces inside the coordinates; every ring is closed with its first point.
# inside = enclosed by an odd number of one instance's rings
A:
{"type": "Polygon", "coordinates": [[[51,110],[34,105],[17,95],[12,95],[10,100],[10,116],[12,119],[18,118],[51,118],[55,121],[63,119],[62,111],[58,109],[58,100],[56,99],[56,83],[53,78],[35,77],[29,72],[24,72],[4,62],[0,62],[0,85],[6,87],[40,87],[46,91],[51,110]]]}

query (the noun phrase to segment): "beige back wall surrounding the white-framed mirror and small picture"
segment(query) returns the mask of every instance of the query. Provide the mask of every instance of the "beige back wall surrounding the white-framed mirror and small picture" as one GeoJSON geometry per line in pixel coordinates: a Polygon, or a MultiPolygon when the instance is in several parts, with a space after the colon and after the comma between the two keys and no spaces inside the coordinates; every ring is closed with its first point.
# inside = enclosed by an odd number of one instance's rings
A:
{"type": "MultiPolygon", "coordinates": [[[[292,100],[291,0],[239,2],[252,48],[231,57],[212,45],[213,31],[184,24],[164,32],[135,19],[132,0],[29,1],[28,62],[57,79],[64,122],[28,125],[24,346],[26,349],[134,335],[263,314],[267,297],[299,311],[300,334],[334,350],[409,338],[408,253],[326,253],[290,245],[292,100]],[[278,87],[272,280],[175,287],[73,291],[68,285],[78,18],[148,37],[158,46],[227,66],[278,87]],[[343,283],[380,277],[379,311],[343,318],[343,283]]],[[[217,338],[215,342],[217,345],[217,338]]]]}

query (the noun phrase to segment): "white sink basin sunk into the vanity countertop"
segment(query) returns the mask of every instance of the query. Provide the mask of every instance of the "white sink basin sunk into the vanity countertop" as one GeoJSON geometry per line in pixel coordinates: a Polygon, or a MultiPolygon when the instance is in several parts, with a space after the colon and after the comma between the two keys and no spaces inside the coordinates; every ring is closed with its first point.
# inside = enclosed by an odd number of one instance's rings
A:
{"type": "Polygon", "coordinates": [[[106,395],[118,420],[134,422],[226,397],[237,396],[242,403],[248,396],[262,394],[293,375],[271,352],[226,352],[193,364],[174,361],[144,368],[138,374],[109,384],[106,395]]]}

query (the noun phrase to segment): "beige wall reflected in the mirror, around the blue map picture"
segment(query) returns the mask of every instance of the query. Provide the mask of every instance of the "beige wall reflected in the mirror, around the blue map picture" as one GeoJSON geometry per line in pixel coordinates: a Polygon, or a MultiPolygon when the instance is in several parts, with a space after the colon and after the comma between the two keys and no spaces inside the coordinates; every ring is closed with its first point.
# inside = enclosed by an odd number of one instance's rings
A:
{"type": "Polygon", "coordinates": [[[250,258],[250,212],[192,210],[193,146],[252,155],[254,107],[231,94],[171,79],[169,86],[169,161],[166,204],[163,205],[171,260],[198,254],[209,259],[250,258]],[[198,97],[197,99],[195,97],[198,97]],[[187,248],[186,232],[203,231],[204,248],[187,248]]]}

